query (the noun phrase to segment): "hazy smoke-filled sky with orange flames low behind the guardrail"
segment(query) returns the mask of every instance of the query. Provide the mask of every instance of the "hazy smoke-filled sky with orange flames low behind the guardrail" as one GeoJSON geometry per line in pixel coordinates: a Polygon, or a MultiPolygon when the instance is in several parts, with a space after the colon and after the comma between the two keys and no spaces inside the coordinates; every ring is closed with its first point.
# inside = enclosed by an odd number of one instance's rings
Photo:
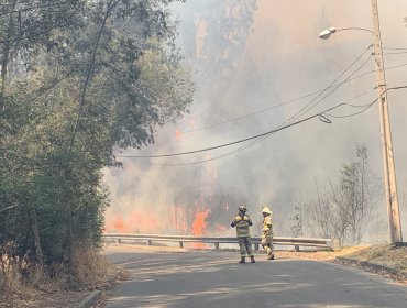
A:
{"type": "MultiPolygon", "coordinates": [[[[194,74],[195,99],[183,119],[157,128],[155,144],[125,152],[129,155],[218,146],[339,103],[363,106],[377,97],[371,33],[349,30],[330,40],[318,37],[330,26],[371,30],[369,0],[189,0],[172,10],[179,20],[177,44],[194,74]],[[330,88],[332,94],[311,96],[343,72],[343,76],[353,72],[352,80],[330,88]]],[[[407,1],[378,0],[378,10],[387,86],[407,86],[407,1]]],[[[406,95],[407,89],[388,92],[404,238],[406,95]]],[[[348,106],[330,114],[343,117],[359,110],[348,106]]],[[[123,158],[122,169],[106,170],[111,191],[107,230],[191,233],[200,223],[205,226],[198,229],[206,233],[231,235],[234,231],[228,222],[238,206],[246,204],[256,222],[261,207],[271,206],[277,234],[288,237],[296,200],[315,198],[316,184],[338,178],[342,164],[354,157],[358,143],[366,144],[370,166],[383,177],[377,105],[358,116],[329,119],[332,123],[315,118],[253,144],[167,158],[123,158]]],[[[384,199],[375,206],[372,222],[365,241],[385,241],[384,199]]]]}

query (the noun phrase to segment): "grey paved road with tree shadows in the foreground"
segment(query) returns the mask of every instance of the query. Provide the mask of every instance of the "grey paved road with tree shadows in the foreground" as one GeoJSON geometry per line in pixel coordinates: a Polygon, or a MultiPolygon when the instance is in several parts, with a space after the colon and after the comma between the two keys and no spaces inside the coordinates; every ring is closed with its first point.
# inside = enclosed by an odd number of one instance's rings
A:
{"type": "Polygon", "coordinates": [[[131,277],[110,292],[107,308],[407,307],[407,286],[331,263],[260,255],[238,264],[237,253],[224,252],[108,255],[131,277]]]}

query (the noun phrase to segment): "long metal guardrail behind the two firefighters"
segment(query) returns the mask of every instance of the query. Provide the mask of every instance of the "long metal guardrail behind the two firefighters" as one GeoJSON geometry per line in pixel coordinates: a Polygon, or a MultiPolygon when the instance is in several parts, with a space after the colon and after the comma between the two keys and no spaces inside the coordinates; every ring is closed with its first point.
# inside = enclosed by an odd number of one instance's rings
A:
{"type": "MultiPolygon", "coordinates": [[[[131,233],[105,233],[106,241],[116,241],[119,243],[145,241],[147,245],[152,242],[178,242],[180,248],[184,248],[186,242],[198,242],[215,244],[215,249],[219,250],[220,244],[238,243],[237,238],[231,237],[196,237],[196,235],[163,235],[163,234],[131,234],[131,233]]],[[[255,250],[258,250],[262,238],[252,237],[252,242],[255,250]]],[[[299,246],[318,246],[327,248],[333,251],[341,249],[341,241],[339,239],[311,239],[311,238],[284,238],[274,237],[273,243],[277,245],[294,245],[296,250],[299,246]]]]}

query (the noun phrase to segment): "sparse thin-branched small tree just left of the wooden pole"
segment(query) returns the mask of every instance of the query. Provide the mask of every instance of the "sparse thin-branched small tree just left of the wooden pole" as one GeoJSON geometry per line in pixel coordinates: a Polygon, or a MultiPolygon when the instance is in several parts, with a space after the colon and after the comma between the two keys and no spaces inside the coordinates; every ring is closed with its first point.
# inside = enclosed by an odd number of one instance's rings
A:
{"type": "Polygon", "coordinates": [[[383,191],[380,180],[370,170],[367,148],[356,145],[355,160],[342,164],[338,183],[329,182],[318,200],[311,201],[308,224],[324,238],[339,238],[358,244],[366,230],[373,206],[383,191]]]}

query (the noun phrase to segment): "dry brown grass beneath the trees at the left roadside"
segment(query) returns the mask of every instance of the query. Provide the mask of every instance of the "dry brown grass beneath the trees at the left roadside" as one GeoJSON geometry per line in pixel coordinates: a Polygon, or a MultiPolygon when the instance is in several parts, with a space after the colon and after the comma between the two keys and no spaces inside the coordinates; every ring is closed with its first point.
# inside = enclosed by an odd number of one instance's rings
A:
{"type": "Polygon", "coordinates": [[[56,264],[48,267],[50,275],[45,275],[34,266],[1,254],[0,307],[75,307],[91,290],[107,288],[119,279],[116,276],[119,270],[110,266],[97,250],[86,245],[76,249],[73,268],[73,275],[67,276],[66,268],[56,264]],[[74,289],[68,289],[72,282],[74,289]]]}

